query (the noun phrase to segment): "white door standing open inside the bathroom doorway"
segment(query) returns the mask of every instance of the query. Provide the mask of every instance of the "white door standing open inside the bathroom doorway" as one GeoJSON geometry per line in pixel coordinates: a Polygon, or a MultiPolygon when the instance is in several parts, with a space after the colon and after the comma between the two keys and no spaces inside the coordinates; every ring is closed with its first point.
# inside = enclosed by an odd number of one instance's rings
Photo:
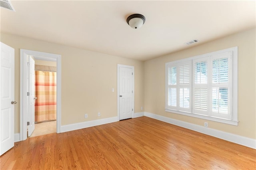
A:
{"type": "Polygon", "coordinates": [[[32,132],[35,130],[35,61],[29,56],[28,64],[28,136],[31,136],[32,132]]]}

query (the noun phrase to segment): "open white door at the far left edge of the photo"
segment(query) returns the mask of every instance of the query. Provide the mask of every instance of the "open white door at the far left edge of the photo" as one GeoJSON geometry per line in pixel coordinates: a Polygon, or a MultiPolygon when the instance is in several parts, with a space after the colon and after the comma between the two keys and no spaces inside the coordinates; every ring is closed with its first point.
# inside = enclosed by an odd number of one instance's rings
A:
{"type": "Polygon", "coordinates": [[[1,42],[0,155],[14,146],[14,49],[1,42]]]}

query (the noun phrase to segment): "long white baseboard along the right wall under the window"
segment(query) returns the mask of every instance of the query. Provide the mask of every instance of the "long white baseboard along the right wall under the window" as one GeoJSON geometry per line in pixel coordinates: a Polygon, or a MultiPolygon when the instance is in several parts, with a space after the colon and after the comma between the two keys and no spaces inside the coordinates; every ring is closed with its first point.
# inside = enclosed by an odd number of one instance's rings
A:
{"type": "Polygon", "coordinates": [[[249,148],[256,149],[256,139],[247,138],[247,137],[240,136],[240,135],[237,135],[237,134],[232,134],[232,133],[224,132],[224,131],[221,131],[221,130],[216,130],[216,129],[213,129],[213,128],[203,127],[203,126],[195,125],[195,124],[192,124],[192,123],[187,123],[187,122],[184,122],[184,121],[178,121],[176,119],[171,119],[171,118],[156,115],[156,114],[153,114],[153,113],[144,112],[144,115],[146,117],[157,119],[159,121],[163,121],[163,122],[166,122],[166,123],[177,125],[179,127],[188,128],[188,129],[194,130],[196,132],[200,132],[200,133],[203,133],[203,134],[214,136],[216,138],[227,140],[229,142],[233,142],[233,143],[236,143],[236,144],[247,146],[249,148]]]}

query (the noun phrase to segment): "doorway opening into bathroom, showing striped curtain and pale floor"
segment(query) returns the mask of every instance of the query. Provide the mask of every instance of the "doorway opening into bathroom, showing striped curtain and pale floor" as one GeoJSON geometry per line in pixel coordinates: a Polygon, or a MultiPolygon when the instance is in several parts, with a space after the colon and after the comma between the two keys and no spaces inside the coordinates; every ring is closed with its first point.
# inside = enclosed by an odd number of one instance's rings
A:
{"type": "Polygon", "coordinates": [[[35,59],[35,128],[30,137],[56,133],[56,61],[35,59]]]}

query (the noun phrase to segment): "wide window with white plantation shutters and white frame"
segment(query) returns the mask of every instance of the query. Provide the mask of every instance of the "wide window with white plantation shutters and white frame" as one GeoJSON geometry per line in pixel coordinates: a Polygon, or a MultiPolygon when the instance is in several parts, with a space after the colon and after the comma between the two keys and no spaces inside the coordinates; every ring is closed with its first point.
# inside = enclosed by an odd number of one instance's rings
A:
{"type": "Polygon", "coordinates": [[[237,47],[166,63],[166,111],[238,125],[237,47]]]}

